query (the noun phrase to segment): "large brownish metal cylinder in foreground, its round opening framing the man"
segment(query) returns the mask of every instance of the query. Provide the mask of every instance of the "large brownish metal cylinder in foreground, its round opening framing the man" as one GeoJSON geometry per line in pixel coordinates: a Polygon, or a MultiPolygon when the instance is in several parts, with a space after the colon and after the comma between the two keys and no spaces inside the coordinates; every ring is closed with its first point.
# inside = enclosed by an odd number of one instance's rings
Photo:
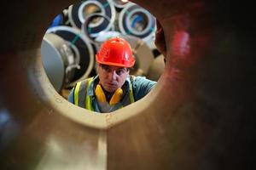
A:
{"type": "Polygon", "coordinates": [[[134,2],[165,31],[166,68],[148,96],[111,114],[69,104],[44,73],[44,32],[75,2],[2,3],[1,169],[254,169],[254,29],[241,19],[255,10],[134,2]]]}

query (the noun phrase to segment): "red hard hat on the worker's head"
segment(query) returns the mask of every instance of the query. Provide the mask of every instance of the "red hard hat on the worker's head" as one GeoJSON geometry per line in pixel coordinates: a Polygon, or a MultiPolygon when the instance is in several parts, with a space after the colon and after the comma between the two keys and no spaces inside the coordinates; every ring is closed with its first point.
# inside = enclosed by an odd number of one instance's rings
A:
{"type": "Polygon", "coordinates": [[[103,42],[96,54],[96,61],[103,65],[122,67],[131,67],[135,63],[130,44],[120,37],[113,37],[103,42]]]}

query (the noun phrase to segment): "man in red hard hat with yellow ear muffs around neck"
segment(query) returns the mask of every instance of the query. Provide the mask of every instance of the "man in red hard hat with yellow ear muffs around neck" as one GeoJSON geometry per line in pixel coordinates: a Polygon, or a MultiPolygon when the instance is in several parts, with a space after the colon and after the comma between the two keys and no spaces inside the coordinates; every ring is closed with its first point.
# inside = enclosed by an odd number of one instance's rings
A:
{"type": "Polygon", "coordinates": [[[113,37],[102,43],[96,54],[96,77],[77,82],[68,101],[90,111],[116,111],[142,99],[156,82],[130,76],[134,65],[131,46],[125,39],[113,37]]]}

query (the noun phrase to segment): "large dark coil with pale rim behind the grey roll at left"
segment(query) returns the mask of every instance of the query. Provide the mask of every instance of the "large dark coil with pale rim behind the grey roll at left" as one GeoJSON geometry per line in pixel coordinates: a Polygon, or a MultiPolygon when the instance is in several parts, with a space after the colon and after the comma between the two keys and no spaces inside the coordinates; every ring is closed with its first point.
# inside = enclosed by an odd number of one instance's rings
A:
{"type": "Polygon", "coordinates": [[[50,28],[47,33],[49,32],[67,41],[73,51],[75,62],[79,64],[67,86],[73,86],[75,82],[88,77],[95,63],[94,51],[89,40],[76,29],[68,26],[56,26],[50,28]]]}

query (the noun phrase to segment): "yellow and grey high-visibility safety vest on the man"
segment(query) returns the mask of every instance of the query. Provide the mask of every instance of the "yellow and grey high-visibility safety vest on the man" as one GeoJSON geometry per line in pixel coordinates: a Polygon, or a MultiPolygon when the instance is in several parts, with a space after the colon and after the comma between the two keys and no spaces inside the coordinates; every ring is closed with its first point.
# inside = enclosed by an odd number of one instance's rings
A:
{"type": "MultiPolygon", "coordinates": [[[[90,111],[94,111],[94,109],[91,102],[91,96],[87,95],[87,92],[90,88],[90,84],[92,81],[93,77],[90,77],[89,79],[86,79],[82,82],[78,82],[74,88],[74,105],[78,105],[90,111]]],[[[135,102],[131,83],[129,89],[129,99],[129,104],[135,102]]]]}

